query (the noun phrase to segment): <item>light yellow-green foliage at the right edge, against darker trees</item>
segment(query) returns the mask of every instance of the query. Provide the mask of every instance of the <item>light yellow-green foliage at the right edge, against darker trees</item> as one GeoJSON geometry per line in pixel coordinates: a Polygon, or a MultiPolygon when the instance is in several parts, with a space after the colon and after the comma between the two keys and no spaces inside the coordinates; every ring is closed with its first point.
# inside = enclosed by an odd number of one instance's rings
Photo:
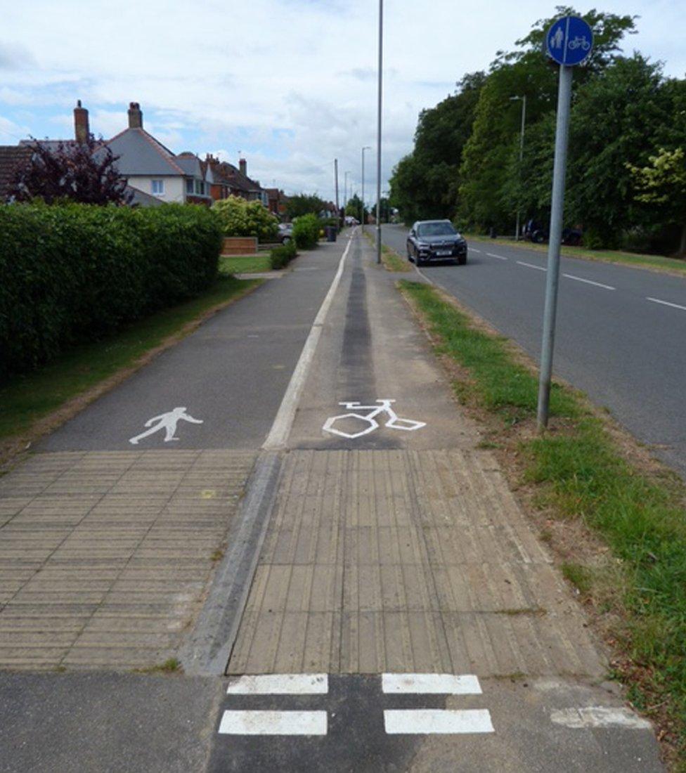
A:
{"type": "Polygon", "coordinates": [[[655,204],[667,221],[681,224],[679,254],[686,255],[686,153],[684,148],[659,148],[643,167],[626,164],[633,176],[637,201],[655,204]]]}

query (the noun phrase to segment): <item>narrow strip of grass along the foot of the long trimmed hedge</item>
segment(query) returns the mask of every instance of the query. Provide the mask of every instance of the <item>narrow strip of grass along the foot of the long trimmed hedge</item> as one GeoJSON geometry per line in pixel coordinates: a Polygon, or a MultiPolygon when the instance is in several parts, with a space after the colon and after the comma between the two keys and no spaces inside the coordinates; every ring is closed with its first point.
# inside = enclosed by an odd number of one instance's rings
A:
{"type": "Polygon", "coordinates": [[[57,410],[73,397],[96,386],[121,369],[134,366],[150,349],[185,325],[226,305],[259,284],[221,274],[213,287],[198,298],[157,312],[111,338],[64,352],[59,359],[34,373],[15,376],[0,386],[0,438],[29,431],[34,422],[57,410]]]}

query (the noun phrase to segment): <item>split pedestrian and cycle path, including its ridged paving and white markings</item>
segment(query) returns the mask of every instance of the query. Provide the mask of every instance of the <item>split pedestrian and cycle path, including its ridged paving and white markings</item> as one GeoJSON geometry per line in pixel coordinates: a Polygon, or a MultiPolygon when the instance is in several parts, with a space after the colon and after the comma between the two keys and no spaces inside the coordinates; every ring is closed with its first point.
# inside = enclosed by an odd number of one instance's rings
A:
{"type": "Polygon", "coordinates": [[[0,771],[663,770],[397,276],[320,245],[2,478],[0,771]]]}

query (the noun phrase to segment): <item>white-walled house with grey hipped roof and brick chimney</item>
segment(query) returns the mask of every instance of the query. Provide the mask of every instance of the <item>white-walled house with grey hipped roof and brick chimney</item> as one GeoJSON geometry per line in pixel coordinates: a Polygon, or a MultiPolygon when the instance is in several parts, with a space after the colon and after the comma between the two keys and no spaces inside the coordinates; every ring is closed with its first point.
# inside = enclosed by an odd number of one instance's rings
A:
{"type": "Polygon", "coordinates": [[[138,102],[128,106],[128,128],[104,143],[118,156],[117,168],[132,189],[161,202],[210,205],[205,169],[195,154],[176,155],[143,128],[138,102]]]}

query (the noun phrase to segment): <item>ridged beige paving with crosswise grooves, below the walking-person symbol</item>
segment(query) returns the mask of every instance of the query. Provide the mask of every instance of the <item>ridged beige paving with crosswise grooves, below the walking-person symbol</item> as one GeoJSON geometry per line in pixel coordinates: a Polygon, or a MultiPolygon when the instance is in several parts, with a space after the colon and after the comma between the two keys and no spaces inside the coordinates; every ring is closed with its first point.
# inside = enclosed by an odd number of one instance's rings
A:
{"type": "Polygon", "coordinates": [[[0,479],[0,668],[175,656],[253,462],[244,451],[58,452],[0,479]]]}

